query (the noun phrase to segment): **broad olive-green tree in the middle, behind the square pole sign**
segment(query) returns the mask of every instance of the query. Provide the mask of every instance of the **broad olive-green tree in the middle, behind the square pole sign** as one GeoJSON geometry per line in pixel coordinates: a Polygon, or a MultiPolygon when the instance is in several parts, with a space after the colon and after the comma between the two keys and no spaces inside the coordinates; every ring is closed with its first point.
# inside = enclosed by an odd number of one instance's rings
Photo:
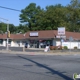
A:
{"type": "Polygon", "coordinates": [[[66,8],[61,6],[61,4],[58,5],[51,5],[46,7],[45,17],[44,17],[44,29],[57,29],[57,27],[60,26],[66,26],[65,23],[65,12],[66,8]]]}

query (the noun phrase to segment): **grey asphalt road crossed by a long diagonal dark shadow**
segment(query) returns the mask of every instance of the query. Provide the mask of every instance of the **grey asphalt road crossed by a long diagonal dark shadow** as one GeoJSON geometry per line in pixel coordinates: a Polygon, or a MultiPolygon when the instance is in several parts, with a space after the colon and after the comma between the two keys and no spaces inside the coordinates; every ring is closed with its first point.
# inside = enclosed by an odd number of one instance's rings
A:
{"type": "Polygon", "coordinates": [[[0,80],[73,80],[80,74],[80,55],[0,53],[0,80]]]}

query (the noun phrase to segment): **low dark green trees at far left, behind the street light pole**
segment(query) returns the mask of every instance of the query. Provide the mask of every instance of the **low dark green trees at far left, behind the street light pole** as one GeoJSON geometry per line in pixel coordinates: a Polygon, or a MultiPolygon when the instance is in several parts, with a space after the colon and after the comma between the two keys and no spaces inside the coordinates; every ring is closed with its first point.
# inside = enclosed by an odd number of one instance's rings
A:
{"type": "MultiPolygon", "coordinates": [[[[19,26],[14,26],[13,24],[9,24],[9,31],[10,33],[25,33],[29,31],[26,25],[20,24],[19,26]]],[[[7,24],[0,23],[0,34],[4,34],[7,32],[7,24]]]]}

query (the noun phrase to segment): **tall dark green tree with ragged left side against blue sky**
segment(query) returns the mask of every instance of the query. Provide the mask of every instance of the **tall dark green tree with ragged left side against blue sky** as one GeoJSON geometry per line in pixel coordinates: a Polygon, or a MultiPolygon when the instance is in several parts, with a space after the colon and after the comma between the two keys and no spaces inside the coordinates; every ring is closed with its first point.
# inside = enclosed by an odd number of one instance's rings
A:
{"type": "Polygon", "coordinates": [[[20,22],[26,23],[29,30],[33,30],[36,27],[36,15],[40,11],[40,6],[36,6],[35,3],[30,3],[25,9],[21,10],[20,22]]]}

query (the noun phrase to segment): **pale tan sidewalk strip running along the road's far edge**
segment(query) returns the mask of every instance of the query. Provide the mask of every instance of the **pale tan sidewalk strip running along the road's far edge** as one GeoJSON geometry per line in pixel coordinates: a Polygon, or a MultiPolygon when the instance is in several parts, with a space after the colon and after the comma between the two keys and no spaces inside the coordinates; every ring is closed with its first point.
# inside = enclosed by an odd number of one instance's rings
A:
{"type": "Polygon", "coordinates": [[[21,52],[21,51],[7,51],[0,50],[0,53],[10,53],[10,54],[26,54],[26,55],[80,55],[80,52],[57,52],[57,51],[48,51],[48,52],[21,52]]]}

